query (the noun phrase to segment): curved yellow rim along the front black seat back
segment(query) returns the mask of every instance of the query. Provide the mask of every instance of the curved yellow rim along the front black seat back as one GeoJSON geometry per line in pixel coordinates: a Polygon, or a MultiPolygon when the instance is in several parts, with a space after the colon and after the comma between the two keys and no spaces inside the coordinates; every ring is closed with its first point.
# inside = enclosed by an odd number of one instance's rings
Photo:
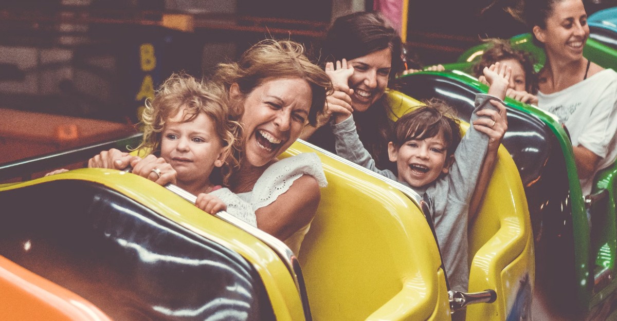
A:
{"type": "Polygon", "coordinates": [[[183,198],[143,177],[113,169],[76,169],[33,181],[5,185],[17,189],[57,179],[77,179],[109,186],[197,234],[238,252],[255,267],[270,298],[276,320],[305,320],[294,280],[277,254],[243,230],[204,213],[183,198]]]}

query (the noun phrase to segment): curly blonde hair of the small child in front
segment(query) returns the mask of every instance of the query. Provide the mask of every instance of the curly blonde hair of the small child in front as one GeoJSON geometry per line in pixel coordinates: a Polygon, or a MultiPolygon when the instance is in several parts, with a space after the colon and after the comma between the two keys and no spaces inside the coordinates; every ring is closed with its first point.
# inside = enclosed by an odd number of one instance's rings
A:
{"type": "Polygon", "coordinates": [[[159,87],[154,99],[147,99],[145,105],[142,115],[144,137],[138,149],[149,148],[151,153],[159,155],[165,121],[183,109],[188,116],[184,121],[192,121],[199,113],[204,113],[215,124],[215,132],[223,146],[231,150],[220,173],[213,171],[211,177],[223,185],[228,184],[229,177],[239,166],[236,155],[242,128],[230,118],[228,96],[223,86],[212,81],[198,81],[184,73],[174,73],[159,87]]]}

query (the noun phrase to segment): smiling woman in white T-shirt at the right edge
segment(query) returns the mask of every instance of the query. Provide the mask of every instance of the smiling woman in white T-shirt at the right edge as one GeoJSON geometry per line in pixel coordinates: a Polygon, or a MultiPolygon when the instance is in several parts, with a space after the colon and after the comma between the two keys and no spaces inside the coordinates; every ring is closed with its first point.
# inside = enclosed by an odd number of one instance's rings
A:
{"type": "Polygon", "coordinates": [[[582,55],[589,26],[581,0],[528,0],[523,18],[547,57],[539,73],[538,107],[566,124],[588,195],[595,173],[617,158],[617,73],[582,55]]]}

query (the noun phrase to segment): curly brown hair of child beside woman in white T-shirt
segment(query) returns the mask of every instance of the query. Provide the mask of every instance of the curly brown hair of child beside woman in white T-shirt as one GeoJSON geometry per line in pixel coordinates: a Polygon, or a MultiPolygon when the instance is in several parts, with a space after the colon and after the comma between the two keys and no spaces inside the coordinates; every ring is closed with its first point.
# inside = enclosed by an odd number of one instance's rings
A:
{"type": "Polygon", "coordinates": [[[537,93],[536,70],[534,69],[534,57],[526,51],[516,50],[510,45],[510,41],[502,39],[486,39],[490,43],[488,49],[482,54],[482,59],[473,67],[474,76],[482,75],[484,67],[489,67],[495,62],[514,59],[521,63],[525,72],[525,89],[531,94],[537,93]]]}

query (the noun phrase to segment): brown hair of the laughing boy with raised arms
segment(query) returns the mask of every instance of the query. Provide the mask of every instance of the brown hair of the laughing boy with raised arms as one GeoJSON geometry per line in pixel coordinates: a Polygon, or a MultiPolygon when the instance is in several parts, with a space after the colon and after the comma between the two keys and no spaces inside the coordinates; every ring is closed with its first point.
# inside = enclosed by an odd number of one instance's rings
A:
{"type": "Polygon", "coordinates": [[[427,139],[441,132],[447,146],[447,157],[453,155],[461,141],[460,122],[452,116],[452,108],[442,100],[431,99],[424,103],[425,106],[405,113],[394,123],[392,144],[399,148],[408,140],[427,139]]]}

